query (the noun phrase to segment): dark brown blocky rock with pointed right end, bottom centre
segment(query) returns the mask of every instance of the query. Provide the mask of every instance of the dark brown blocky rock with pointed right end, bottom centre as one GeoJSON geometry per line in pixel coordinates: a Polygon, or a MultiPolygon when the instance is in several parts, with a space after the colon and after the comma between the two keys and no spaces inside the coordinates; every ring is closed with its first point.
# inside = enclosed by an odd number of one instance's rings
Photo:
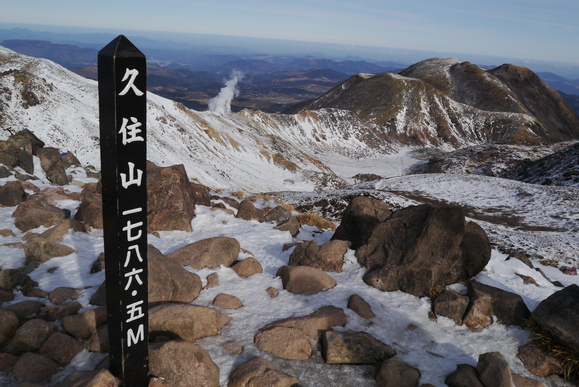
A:
{"type": "Polygon", "coordinates": [[[322,356],[328,364],[376,364],[396,355],[387,344],[366,332],[325,331],[322,356]]]}

